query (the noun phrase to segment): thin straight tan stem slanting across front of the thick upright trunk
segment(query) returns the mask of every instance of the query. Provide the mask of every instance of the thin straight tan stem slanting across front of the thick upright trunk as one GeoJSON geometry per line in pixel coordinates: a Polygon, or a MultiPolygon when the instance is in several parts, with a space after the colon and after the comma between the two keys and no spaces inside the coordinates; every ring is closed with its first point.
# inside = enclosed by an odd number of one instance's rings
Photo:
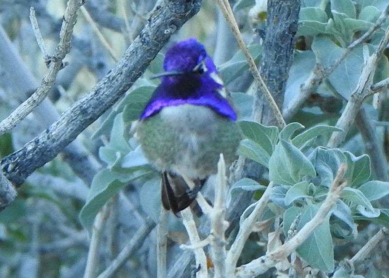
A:
{"type": "Polygon", "coordinates": [[[248,52],[248,48],[243,40],[242,34],[239,31],[238,24],[235,21],[235,17],[233,16],[231,6],[228,0],[217,0],[217,4],[220,7],[220,10],[222,11],[224,17],[226,17],[226,20],[228,24],[230,25],[230,28],[232,30],[232,33],[234,34],[236,41],[239,44],[239,47],[242,49],[243,53],[246,56],[246,59],[248,61],[248,66],[250,69],[251,74],[254,77],[255,82],[258,85],[258,88],[261,90],[261,92],[265,95],[266,100],[268,101],[271,110],[273,111],[274,117],[277,119],[278,126],[280,128],[283,128],[285,124],[285,120],[283,119],[283,115],[281,114],[280,109],[277,106],[276,101],[272,97],[271,93],[266,87],[265,82],[263,81],[257,66],[255,65],[254,59],[248,52]]]}

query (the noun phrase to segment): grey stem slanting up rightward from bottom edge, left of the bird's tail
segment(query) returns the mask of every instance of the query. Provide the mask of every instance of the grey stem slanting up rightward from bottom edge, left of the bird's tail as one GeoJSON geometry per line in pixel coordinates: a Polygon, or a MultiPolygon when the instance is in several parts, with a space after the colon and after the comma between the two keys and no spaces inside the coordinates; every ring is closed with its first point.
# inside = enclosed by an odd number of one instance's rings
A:
{"type": "Polygon", "coordinates": [[[97,278],[116,277],[116,272],[126,263],[131,255],[133,255],[144,243],[144,240],[155,227],[153,221],[147,219],[134,234],[134,236],[124,246],[119,255],[111,262],[103,273],[97,278]]]}

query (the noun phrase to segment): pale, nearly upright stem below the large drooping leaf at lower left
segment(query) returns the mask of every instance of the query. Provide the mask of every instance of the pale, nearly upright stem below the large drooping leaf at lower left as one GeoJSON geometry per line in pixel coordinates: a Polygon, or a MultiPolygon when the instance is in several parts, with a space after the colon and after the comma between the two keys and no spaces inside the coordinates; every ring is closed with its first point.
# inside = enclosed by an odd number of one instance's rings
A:
{"type": "Polygon", "coordinates": [[[93,226],[92,235],[90,238],[87,266],[84,272],[84,278],[94,278],[96,276],[96,268],[98,265],[99,258],[99,245],[101,234],[103,232],[106,219],[109,215],[108,204],[104,205],[103,208],[97,213],[93,226]]]}

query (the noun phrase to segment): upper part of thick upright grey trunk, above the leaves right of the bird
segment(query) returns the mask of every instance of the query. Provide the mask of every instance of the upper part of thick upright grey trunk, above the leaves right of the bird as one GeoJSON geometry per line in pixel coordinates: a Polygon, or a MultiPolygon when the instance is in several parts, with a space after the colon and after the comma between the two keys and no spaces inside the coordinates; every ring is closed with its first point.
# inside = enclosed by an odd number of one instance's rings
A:
{"type": "MultiPolygon", "coordinates": [[[[282,109],[289,69],[293,63],[295,35],[300,1],[270,0],[267,3],[267,24],[260,72],[278,107],[282,109]]],[[[266,126],[277,126],[263,94],[256,98],[254,119],[266,126]]]]}

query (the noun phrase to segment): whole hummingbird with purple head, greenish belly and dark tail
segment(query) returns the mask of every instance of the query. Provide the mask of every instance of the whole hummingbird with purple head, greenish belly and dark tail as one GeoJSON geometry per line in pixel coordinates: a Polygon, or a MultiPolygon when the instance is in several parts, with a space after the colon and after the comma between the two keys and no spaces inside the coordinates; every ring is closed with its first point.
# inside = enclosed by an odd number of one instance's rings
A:
{"type": "Polygon", "coordinates": [[[216,174],[220,153],[227,165],[236,159],[242,133],[216,66],[195,38],[168,49],[163,69],[137,136],[145,157],[162,173],[162,206],[177,216],[216,174]]]}

